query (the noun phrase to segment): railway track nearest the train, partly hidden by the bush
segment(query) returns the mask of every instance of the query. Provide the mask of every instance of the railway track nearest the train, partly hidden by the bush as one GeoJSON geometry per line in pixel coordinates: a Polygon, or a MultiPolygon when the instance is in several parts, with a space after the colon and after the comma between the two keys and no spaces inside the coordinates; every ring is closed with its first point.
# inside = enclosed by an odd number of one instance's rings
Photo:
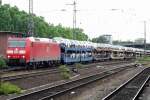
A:
{"type": "MultiPolygon", "coordinates": [[[[115,64],[120,64],[120,63],[123,63],[123,62],[122,61],[120,61],[120,62],[110,62],[110,63],[104,62],[104,63],[101,63],[100,65],[115,65],[115,64]]],[[[124,63],[126,63],[126,62],[124,62],[124,63]]],[[[84,68],[90,68],[91,65],[95,65],[95,63],[87,64],[87,65],[85,65],[86,67],[84,67],[84,68]]],[[[71,68],[74,68],[74,66],[71,66],[70,69],[71,68]]],[[[3,81],[15,81],[17,79],[47,75],[47,74],[51,74],[51,73],[59,73],[58,68],[52,68],[52,69],[48,69],[48,70],[44,70],[44,71],[37,71],[37,72],[29,72],[29,73],[20,74],[20,75],[5,76],[5,77],[2,77],[2,80],[3,81]]]]}

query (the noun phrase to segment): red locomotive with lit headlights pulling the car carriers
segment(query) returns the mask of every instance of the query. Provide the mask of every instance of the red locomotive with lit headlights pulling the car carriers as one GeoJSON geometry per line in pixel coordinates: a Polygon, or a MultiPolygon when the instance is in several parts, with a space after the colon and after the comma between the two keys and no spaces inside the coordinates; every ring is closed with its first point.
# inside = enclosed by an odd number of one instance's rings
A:
{"type": "Polygon", "coordinates": [[[7,59],[9,63],[29,65],[52,64],[60,61],[59,44],[46,38],[9,38],[7,59]]]}

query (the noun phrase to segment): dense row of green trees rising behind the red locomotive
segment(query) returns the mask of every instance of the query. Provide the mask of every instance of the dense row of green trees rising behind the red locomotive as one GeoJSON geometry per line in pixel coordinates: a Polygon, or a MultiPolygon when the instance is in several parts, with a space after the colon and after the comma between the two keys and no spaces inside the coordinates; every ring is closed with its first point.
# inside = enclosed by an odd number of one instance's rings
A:
{"type": "MultiPolygon", "coordinates": [[[[20,11],[16,6],[10,7],[5,4],[0,6],[0,31],[28,32],[29,14],[20,11]]],[[[33,16],[34,36],[36,37],[63,37],[73,39],[73,29],[63,27],[61,24],[53,25],[45,21],[44,17],[33,16]]],[[[77,40],[87,40],[83,29],[75,29],[75,37],[77,40]]]]}

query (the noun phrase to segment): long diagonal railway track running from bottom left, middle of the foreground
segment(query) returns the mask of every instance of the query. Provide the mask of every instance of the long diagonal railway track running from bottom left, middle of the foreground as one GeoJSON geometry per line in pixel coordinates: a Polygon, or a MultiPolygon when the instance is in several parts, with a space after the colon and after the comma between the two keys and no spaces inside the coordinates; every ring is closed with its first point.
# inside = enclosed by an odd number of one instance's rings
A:
{"type": "Polygon", "coordinates": [[[9,100],[53,100],[56,97],[61,96],[64,93],[67,93],[68,91],[80,88],[84,85],[103,79],[105,77],[118,73],[126,68],[130,68],[131,66],[133,67],[134,64],[128,64],[123,67],[114,68],[111,70],[103,71],[98,74],[94,74],[94,75],[90,75],[90,76],[80,78],[77,80],[69,81],[60,85],[56,85],[53,87],[48,87],[46,89],[41,89],[41,90],[34,91],[31,93],[23,94],[17,97],[10,98],[9,100]]]}

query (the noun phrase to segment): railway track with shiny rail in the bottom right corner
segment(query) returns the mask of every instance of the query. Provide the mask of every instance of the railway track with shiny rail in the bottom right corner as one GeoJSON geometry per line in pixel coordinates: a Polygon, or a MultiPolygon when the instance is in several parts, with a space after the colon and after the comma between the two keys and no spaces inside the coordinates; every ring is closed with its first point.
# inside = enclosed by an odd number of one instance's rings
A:
{"type": "Polygon", "coordinates": [[[150,79],[150,67],[145,68],[102,100],[137,100],[150,79]]]}

